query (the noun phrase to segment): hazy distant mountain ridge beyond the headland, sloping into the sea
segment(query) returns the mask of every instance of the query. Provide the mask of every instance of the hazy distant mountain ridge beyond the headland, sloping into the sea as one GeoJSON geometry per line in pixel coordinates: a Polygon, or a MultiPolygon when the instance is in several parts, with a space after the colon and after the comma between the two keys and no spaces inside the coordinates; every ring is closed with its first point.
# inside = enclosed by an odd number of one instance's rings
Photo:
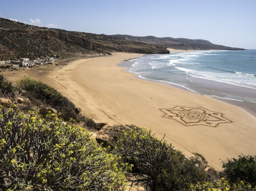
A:
{"type": "Polygon", "coordinates": [[[188,38],[172,38],[172,37],[156,37],[156,36],[131,36],[125,34],[108,35],[114,38],[134,40],[146,42],[150,44],[164,45],[174,49],[223,49],[223,50],[244,50],[243,48],[229,47],[224,45],[213,44],[208,40],[203,39],[188,39],[188,38]]]}

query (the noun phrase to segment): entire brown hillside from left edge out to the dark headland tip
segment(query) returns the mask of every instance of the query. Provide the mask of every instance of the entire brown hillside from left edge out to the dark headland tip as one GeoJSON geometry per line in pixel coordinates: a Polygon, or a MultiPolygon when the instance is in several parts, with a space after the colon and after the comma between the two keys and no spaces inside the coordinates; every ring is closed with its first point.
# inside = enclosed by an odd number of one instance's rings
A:
{"type": "Polygon", "coordinates": [[[99,55],[112,51],[169,53],[164,46],[112,37],[49,29],[0,18],[0,60],[47,55],[99,55]]]}

